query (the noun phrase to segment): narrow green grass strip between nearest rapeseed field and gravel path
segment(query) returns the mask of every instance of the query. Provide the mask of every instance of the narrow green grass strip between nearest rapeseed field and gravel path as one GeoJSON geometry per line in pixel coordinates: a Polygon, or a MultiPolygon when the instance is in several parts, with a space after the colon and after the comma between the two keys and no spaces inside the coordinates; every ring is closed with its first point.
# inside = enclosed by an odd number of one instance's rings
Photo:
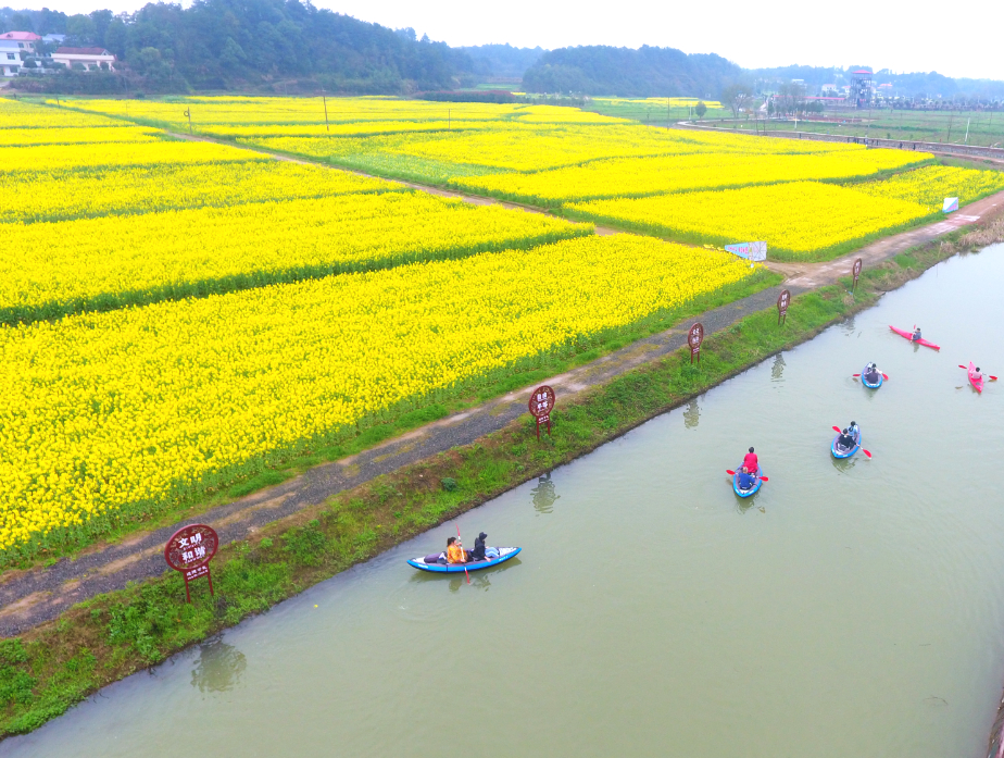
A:
{"type": "Polygon", "coordinates": [[[417,426],[561,374],[780,281],[779,274],[761,269],[741,282],[694,298],[679,308],[657,311],[633,324],[581,337],[551,351],[520,359],[514,365],[443,389],[435,398],[412,398],[398,408],[387,409],[379,417],[361,419],[356,426],[331,430],[324,439],[312,443],[309,449],[299,445],[273,450],[253,461],[251,467],[243,467],[240,473],[206,474],[201,482],[193,484],[191,490],[197,494],[188,498],[163,501],[141,512],[103,513],[83,527],[51,533],[37,543],[0,554],[0,569],[27,569],[40,563],[54,563],[64,556],[75,558],[80,550],[92,549],[98,540],[101,540],[100,544],[113,543],[139,530],[153,531],[178,519],[196,517],[214,506],[279,484],[311,467],[355,455],[417,426]]]}

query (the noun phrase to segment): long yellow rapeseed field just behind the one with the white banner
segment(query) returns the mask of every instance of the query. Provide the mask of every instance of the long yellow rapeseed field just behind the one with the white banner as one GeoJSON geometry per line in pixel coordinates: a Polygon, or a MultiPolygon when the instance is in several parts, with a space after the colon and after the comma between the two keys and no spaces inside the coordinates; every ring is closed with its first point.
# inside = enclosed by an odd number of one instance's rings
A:
{"type": "Polygon", "coordinates": [[[595,161],[534,174],[464,176],[451,184],[482,195],[553,204],[779,182],[864,177],[904,169],[932,158],[928,153],[900,150],[858,150],[816,156],[700,152],[595,161]]]}

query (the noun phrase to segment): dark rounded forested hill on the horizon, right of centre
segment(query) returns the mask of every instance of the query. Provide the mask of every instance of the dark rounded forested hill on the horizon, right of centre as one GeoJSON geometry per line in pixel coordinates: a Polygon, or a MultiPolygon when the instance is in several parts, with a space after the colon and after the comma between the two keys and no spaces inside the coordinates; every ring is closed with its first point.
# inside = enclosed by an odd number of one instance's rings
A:
{"type": "Polygon", "coordinates": [[[541,55],[523,76],[529,92],[589,92],[622,97],[717,97],[742,69],[714,53],[674,48],[562,48],[541,55]]]}

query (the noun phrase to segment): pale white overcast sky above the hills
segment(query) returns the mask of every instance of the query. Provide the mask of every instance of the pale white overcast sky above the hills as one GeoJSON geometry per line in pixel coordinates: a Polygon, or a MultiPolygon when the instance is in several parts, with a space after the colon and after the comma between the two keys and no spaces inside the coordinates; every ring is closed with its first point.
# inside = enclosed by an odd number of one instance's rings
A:
{"type": "MultiPolygon", "coordinates": [[[[100,0],[50,0],[48,4],[77,13],[102,7],[98,3],[100,0]]],[[[112,3],[121,4],[103,7],[121,11],[142,4],[140,0],[112,3]]],[[[419,36],[425,33],[452,46],[509,42],[553,49],[652,45],[716,52],[750,69],[791,63],[870,65],[875,71],[938,71],[947,76],[1004,79],[1001,0],[314,0],[314,4],[385,26],[411,26],[419,36]]]]}

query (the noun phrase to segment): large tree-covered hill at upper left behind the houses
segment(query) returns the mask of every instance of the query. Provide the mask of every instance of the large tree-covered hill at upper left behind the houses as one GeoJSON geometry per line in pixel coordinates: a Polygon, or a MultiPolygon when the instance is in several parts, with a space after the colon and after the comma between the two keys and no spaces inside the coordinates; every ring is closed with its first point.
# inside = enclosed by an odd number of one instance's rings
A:
{"type": "Polygon", "coordinates": [[[189,8],[158,2],[117,16],[4,11],[4,26],[67,34],[66,45],[106,48],[148,88],[286,80],[301,89],[402,94],[452,89],[474,73],[463,50],[299,0],[196,0],[189,8]]]}

